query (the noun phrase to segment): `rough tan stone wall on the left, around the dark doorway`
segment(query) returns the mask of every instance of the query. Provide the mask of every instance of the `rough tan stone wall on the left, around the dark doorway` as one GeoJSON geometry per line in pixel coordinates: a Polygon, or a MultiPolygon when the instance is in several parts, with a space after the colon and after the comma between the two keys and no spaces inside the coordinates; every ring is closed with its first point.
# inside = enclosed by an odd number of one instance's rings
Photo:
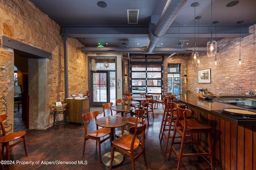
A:
{"type": "MultiPolygon", "coordinates": [[[[46,104],[45,119],[49,121],[44,128],[52,125],[52,115],[49,115],[52,103],[64,101],[64,55],[63,38],[60,26],[42,13],[29,0],[0,1],[0,114],[7,114],[5,122],[8,131],[13,131],[14,110],[14,51],[2,47],[2,35],[22,43],[37,47],[52,53],[49,61],[50,72],[47,72],[50,93],[46,104]]],[[[81,53],[80,44],[76,39],[68,38],[68,74],[69,95],[84,93],[87,85],[86,55],[81,53]]],[[[33,114],[33,111],[30,111],[33,114]]]]}

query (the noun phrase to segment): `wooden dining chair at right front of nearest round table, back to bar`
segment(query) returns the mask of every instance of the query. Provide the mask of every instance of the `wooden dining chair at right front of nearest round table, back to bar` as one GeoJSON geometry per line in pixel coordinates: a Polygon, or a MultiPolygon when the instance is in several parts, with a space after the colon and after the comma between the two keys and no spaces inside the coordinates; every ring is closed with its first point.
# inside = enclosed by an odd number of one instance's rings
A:
{"type": "Polygon", "coordinates": [[[142,126],[132,126],[129,128],[131,134],[124,134],[120,138],[112,141],[112,152],[111,152],[111,161],[110,161],[110,169],[112,169],[112,163],[114,159],[114,150],[118,149],[121,152],[127,154],[132,159],[132,170],[135,169],[134,161],[143,154],[144,156],[144,164],[147,169],[147,163],[146,163],[146,153],[145,153],[145,146],[144,146],[144,135],[145,135],[145,129],[146,129],[146,121],[144,120],[142,123],[142,126]],[[141,135],[140,135],[141,134],[141,135]],[[140,136],[140,139],[138,138],[140,136]],[[138,147],[141,148],[140,152],[136,154],[137,152],[134,152],[135,149],[138,147]]]}

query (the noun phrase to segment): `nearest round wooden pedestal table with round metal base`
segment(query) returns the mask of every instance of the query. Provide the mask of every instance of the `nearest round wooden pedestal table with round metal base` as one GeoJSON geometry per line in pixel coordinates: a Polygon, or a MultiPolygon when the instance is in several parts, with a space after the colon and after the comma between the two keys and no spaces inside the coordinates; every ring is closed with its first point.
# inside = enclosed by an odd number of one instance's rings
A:
{"type": "MultiPolygon", "coordinates": [[[[127,123],[128,123],[128,119],[121,116],[106,116],[96,120],[96,124],[98,126],[107,127],[111,129],[111,133],[110,133],[111,147],[112,147],[112,141],[114,140],[114,128],[124,126],[127,123]]],[[[105,153],[102,156],[102,164],[109,167],[110,160],[111,160],[111,151],[105,153]]],[[[113,159],[112,166],[117,166],[121,164],[123,160],[124,160],[124,156],[120,152],[114,152],[114,159],[113,159]]]]}

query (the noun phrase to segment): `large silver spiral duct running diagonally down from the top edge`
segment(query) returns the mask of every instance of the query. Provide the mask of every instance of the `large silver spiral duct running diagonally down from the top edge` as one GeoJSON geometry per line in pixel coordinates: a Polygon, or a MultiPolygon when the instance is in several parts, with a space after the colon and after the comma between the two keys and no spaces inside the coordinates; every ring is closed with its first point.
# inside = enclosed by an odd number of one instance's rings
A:
{"type": "Polygon", "coordinates": [[[152,52],[156,45],[162,40],[167,29],[170,27],[180,10],[188,0],[168,0],[162,15],[156,24],[154,30],[150,27],[149,30],[149,43],[147,47],[148,52],[152,52]]]}

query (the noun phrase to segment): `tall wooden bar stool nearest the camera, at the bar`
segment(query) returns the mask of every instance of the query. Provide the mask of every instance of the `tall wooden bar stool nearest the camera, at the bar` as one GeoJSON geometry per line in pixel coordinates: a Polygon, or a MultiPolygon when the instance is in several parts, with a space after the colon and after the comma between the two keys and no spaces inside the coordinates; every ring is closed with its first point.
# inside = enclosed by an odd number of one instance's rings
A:
{"type": "MultiPolygon", "coordinates": [[[[182,109],[180,106],[177,106],[178,115],[176,119],[176,125],[174,128],[174,133],[172,137],[172,143],[171,148],[168,156],[168,160],[170,160],[170,156],[172,154],[172,151],[178,158],[178,165],[177,170],[180,169],[180,163],[182,157],[185,156],[210,156],[210,164],[211,164],[211,170],[214,170],[214,162],[213,162],[213,149],[212,149],[212,127],[205,125],[201,121],[197,119],[187,119],[187,117],[191,116],[191,111],[189,109],[182,109]],[[179,125],[182,126],[182,128],[179,127],[179,125]],[[181,142],[174,142],[176,138],[176,133],[179,133],[182,136],[181,142]],[[200,141],[200,133],[207,134],[206,138],[208,138],[208,145],[205,145],[205,148],[203,149],[200,147],[200,143],[205,143],[206,141],[200,141]],[[190,134],[190,135],[187,135],[190,134]],[[185,141],[186,137],[190,137],[190,141],[185,141]],[[194,137],[197,137],[197,139],[193,139],[194,137]],[[179,154],[176,151],[174,144],[180,144],[180,151],[179,154]],[[185,144],[196,144],[196,150],[197,153],[183,153],[184,145],[185,144]],[[207,147],[208,146],[208,147],[207,147]],[[207,151],[208,150],[208,151],[207,151]]],[[[202,139],[203,140],[203,139],[202,139]]],[[[192,147],[193,148],[193,147],[192,147]]]]}

